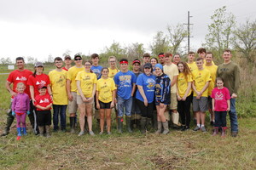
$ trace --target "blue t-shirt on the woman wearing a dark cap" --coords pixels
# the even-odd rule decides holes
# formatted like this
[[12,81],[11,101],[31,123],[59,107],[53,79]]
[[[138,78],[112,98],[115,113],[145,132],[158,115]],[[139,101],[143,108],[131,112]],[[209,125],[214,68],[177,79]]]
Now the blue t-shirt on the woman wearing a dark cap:
[[[144,94],[148,99],[148,103],[152,103],[154,101],[154,86],[155,86],[155,77],[154,75],[147,76],[146,74],[140,74],[137,77],[136,85],[142,86],[144,90]],[[142,94],[137,89],[136,99],[144,101]]]

